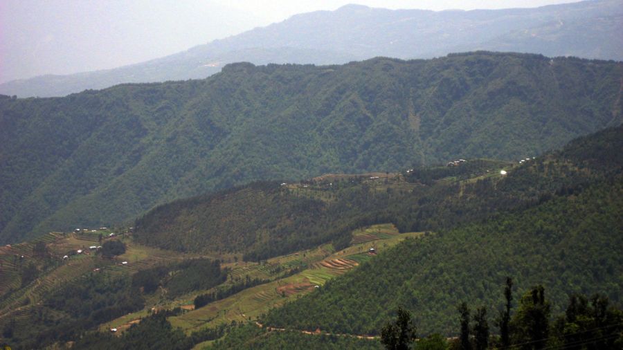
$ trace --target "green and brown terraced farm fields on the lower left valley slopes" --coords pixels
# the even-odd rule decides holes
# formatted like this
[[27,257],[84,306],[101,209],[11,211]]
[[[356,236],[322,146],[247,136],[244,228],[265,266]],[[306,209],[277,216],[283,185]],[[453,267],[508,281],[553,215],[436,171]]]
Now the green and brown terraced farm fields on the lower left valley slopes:
[[[374,225],[354,232],[354,237],[366,238],[354,240],[352,246],[344,250],[335,251],[330,244],[325,244],[318,248],[275,257],[262,264],[243,261],[228,262],[223,264],[230,271],[228,282],[217,288],[227,288],[228,285],[240,282],[246,277],[269,282],[247,288],[240,293],[195,310],[192,309],[192,300],[197,295],[210,291],[193,291],[175,300],[168,300],[160,293],[154,293],[148,296],[145,309],[101,324],[100,330],[108,331],[116,327],[120,330],[118,333],[122,333],[132,324],[140,322],[141,318],[148,315],[152,308],[170,309],[177,306],[183,306],[186,311],[181,315],[170,317],[170,322],[174,326],[180,326],[187,333],[206,326],[217,326],[223,322],[257,319],[270,308],[280,306],[291,298],[314,293],[316,288],[323,286],[329,279],[343,275],[359,264],[374,259],[374,255],[368,253],[369,248],[383,250],[406,237],[417,237],[417,235],[419,234],[398,234],[396,228],[390,224]],[[153,268],[161,264],[199,257],[199,255],[141,246],[134,243],[132,237],[124,235],[114,239],[122,240],[127,250],[125,254],[114,259],[102,259],[89,250],[89,246],[100,244],[97,232],[93,234],[91,232],[49,234],[44,239],[48,243],[51,261],[55,262],[53,266],[46,268],[42,277],[21,289],[16,269],[17,264],[20,263],[16,259],[24,255],[23,259],[36,260],[37,257],[33,257],[35,242],[0,248],[0,271],[3,272],[0,279],[6,282],[2,291],[17,291],[17,293],[8,293],[5,299],[1,300],[0,317],[10,316],[27,320],[28,317],[36,315],[37,308],[42,307],[40,302],[46,293],[82,275],[93,273],[96,268],[113,275],[132,274],[138,270]],[[84,253],[75,255],[78,249],[84,249]],[[69,259],[62,259],[69,252],[74,255],[71,255]],[[210,256],[210,258],[219,258],[219,256]],[[233,260],[231,258],[228,257],[229,261]],[[120,264],[122,261],[128,261],[128,264]]]

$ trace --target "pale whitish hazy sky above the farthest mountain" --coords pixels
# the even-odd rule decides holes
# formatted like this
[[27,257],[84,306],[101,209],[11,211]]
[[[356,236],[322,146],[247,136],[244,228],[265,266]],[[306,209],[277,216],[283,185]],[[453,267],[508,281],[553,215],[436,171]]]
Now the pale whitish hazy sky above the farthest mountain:
[[0,82],[114,68],[347,3],[430,10],[577,0],[0,0]]

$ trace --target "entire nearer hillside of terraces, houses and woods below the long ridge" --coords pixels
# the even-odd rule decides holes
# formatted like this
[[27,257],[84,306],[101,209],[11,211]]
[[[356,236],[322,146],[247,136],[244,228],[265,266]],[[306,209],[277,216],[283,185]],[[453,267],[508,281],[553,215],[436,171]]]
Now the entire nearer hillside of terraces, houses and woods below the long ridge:
[[[379,349],[397,305],[412,311],[420,337],[453,336],[461,301],[486,305],[495,334],[507,275],[514,319],[534,284],[545,285],[555,316],[575,293],[601,293],[620,308],[622,136],[623,125],[608,128],[521,163],[468,159],[253,183],[162,205],[134,230],[51,232],[0,246],[3,341],[19,349]],[[332,237],[306,228],[330,231],[350,219],[357,228],[337,234],[347,240],[327,243]],[[316,241],[304,246],[305,238]],[[241,261],[256,248],[247,241],[290,253]],[[591,313],[601,315],[598,329],[616,338],[569,332],[558,318],[550,337],[620,338],[623,313],[591,302],[603,311]],[[587,322],[579,326],[594,330]]]

